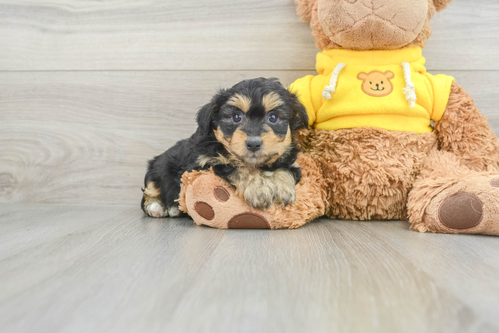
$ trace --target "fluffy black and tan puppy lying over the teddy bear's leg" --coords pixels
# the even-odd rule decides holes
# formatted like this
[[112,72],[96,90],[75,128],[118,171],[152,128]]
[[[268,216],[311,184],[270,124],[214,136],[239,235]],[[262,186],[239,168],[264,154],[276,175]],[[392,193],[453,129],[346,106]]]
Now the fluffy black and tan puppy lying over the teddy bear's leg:
[[288,205],[300,168],[294,133],[308,125],[298,98],[275,79],[252,79],[220,90],[198,114],[198,129],[149,161],[142,209],[149,216],[180,216],[175,201],[185,171],[213,167],[258,208]]

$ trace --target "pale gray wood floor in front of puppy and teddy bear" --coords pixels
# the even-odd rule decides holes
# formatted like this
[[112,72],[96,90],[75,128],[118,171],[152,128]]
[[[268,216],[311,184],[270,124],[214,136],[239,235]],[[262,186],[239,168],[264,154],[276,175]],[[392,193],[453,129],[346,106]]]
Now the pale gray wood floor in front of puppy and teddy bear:
[[[22,215],[37,210],[43,214]],[[499,329],[492,313],[499,298],[482,297],[488,311],[476,306],[487,291],[497,295],[499,282],[489,278],[499,271],[496,237],[326,219],[292,231],[218,230],[190,219],[148,218],[138,207],[0,211],[10,225],[0,224],[4,239],[27,226],[53,225],[31,246],[7,255],[0,248],[0,331]],[[68,227],[75,218],[86,222]],[[460,279],[449,281],[451,275]],[[479,295],[456,290],[456,283]]]

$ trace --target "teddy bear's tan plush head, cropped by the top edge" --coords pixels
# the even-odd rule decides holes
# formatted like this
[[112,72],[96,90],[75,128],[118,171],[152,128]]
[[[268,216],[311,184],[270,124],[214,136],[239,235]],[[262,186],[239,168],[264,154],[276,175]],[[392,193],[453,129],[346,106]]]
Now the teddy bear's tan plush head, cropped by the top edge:
[[452,0],[296,0],[323,50],[394,50],[426,44],[430,19]]

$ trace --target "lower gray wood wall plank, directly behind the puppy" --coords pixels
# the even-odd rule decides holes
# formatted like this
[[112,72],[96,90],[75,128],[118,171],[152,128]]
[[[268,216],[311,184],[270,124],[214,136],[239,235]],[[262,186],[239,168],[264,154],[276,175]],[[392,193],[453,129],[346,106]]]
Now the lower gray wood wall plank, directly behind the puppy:
[[[497,72],[444,72],[499,130]],[[0,202],[137,204],[146,162],[196,129],[215,90],[312,71],[1,73]]]

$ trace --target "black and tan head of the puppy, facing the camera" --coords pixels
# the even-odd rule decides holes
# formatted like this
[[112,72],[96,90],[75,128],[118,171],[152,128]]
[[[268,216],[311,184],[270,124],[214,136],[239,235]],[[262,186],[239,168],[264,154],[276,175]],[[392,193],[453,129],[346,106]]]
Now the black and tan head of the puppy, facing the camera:
[[214,112],[213,132],[245,165],[275,162],[291,148],[293,133],[308,124],[296,96],[276,79],[242,81],[227,93]]

